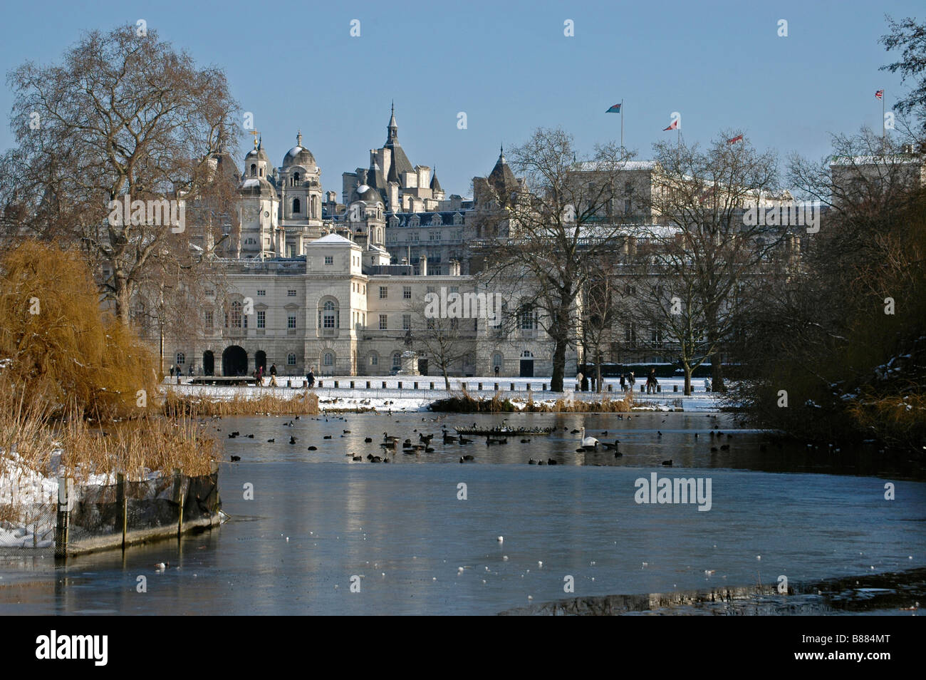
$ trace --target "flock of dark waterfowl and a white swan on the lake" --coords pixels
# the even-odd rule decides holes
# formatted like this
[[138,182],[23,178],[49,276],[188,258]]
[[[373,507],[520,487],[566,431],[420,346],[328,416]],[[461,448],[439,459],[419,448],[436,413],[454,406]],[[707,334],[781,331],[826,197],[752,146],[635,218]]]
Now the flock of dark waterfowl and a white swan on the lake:
[[[618,414],[618,415],[619,415],[619,420],[624,420],[623,414]],[[707,417],[708,417],[708,418],[711,418],[711,417],[716,418],[716,416],[707,416]],[[345,420],[346,420],[343,416],[338,416],[337,418],[339,418],[339,419],[342,420],[342,421],[345,421]],[[432,421],[438,421],[438,420],[441,420],[442,418],[444,418],[444,416],[439,417],[439,418],[432,418],[432,419],[430,419],[430,420],[432,420]],[[627,418],[630,419],[631,416],[627,416]],[[294,427],[294,426],[295,426],[295,422],[294,422],[294,421],[298,421],[298,420],[299,420],[299,416],[295,416],[295,417],[294,417],[294,420],[292,420],[292,421],[290,421],[290,422],[284,423],[284,426],[285,426],[285,427]],[[321,421],[322,418],[319,417],[319,418],[314,419],[314,420],[319,420],[319,421]],[[422,418],[421,420],[422,420],[422,421],[427,421],[427,420],[429,420],[429,419]],[[324,421],[325,421],[325,422],[328,422],[328,417],[327,417],[327,416],[324,416]],[[398,422],[398,421],[396,421],[396,422]],[[663,422],[666,422],[666,421],[663,420]],[[475,423],[475,422],[473,423],[473,427],[476,427],[476,423]],[[218,428],[217,428],[217,429],[218,429]],[[567,428],[567,427],[564,427],[564,428],[563,428],[564,431],[567,431],[568,429],[569,429],[569,428]],[[375,463],[380,463],[380,462],[382,462],[382,463],[388,463],[388,462],[390,462],[389,455],[390,455],[390,454],[395,455],[398,451],[401,451],[404,455],[407,455],[407,456],[419,456],[419,455],[422,454],[422,453],[430,454],[430,453],[434,453],[434,452],[435,452],[436,449],[432,446],[432,444],[433,444],[433,439],[434,439],[435,434],[433,434],[433,433],[431,433],[431,434],[425,434],[425,433],[423,433],[423,432],[419,432],[417,428],[414,429],[413,432],[416,433],[416,434],[418,434],[417,438],[416,438],[414,441],[412,440],[411,437],[403,438],[403,437],[401,437],[401,436],[395,436],[394,434],[389,434],[388,432],[383,432],[383,433],[382,433],[382,441],[379,442],[379,447],[382,448],[381,455],[375,455],[375,454],[373,454],[373,453],[368,453],[367,456],[364,457],[364,456],[362,456],[361,454],[358,454],[358,453],[356,453],[356,452],[349,452],[349,453],[346,453],[346,454],[344,454],[344,455],[347,456],[348,458],[350,458],[351,460],[357,461],[357,462],[362,462],[362,461],[364,460],[364,458],[366,458],[366,460],[368,460],[369,462],[375,462]],[[351,434],[351,431],[345,429],[345,430],[343,430],[341,436],[344,437],[344,436],[347,435],[347,434]],[[586,435],[586,431],[585,431],[585,427],[584,427],[584,426],[582,426],[581,428],[578,428],[578,429],[573,429],[573,430],[571,430],[571,431],[570,431],[570,434],[578,434],[578,435],[579,435],[579,436],[578,436],[579,447],[577,447],[577,448],[575,449],[577,453],[598,453],[598,452],[606,452],[606,451],[607,451],[607,452],[612,452],[613,455],[614,455],[614,458],[621,458],[621,457],[623,456],[623,452],[620,451],[620,440],[619,440],[619,439],[615,439],[613,442],[609,442],[609,441],[604,441],[604,440],[601,440],[601,439],[597,439],[597,438],[595,438],[594,436],[588,436],[588,435]],[[234,438],[239,437],[239,436],[241,436],[241,433],[238,432],[238,431],[235,431],[235,432],[232,432],[231,434],[229,434],[229,438],[230,438],[230,439],[234,439]],[[247,436],[248,438],[250,438],[250,439],[253,439],[253,438],[254,438],[254,434],[247,434],[246,436]],[[487,447],[492,447],[492,446],[504,446],[504,445],[507,445],[509,436],[515,436],[515,435],[513,435],[513,434],[512,434],[512,435],[506,435],[506,434],[488,434],[488,435],[485,436],[485,446],[487,446]],[[601,436],[601,437],[607,437],[607,436],[608,436],[607,430],[605,430],[604,432],[602,432],[601,434],[599,434],[599,436]],[[656,436],[657,436],[657,439],[661,438],[661,437],[662,437],[662,431],[661,431],[661,430],[657,430]],[[712,453],[716,453],[716,452],[718,452],[718,451],[720,451],[720,450],[729,450],[730,444],[729,444],[729,443],[720,444],[720,440],[721,440],[722,437],[726,437],[727,439],[731,439],[731,438],[732,438],[732,434],[725,434],[725,433],[721,432],[720,430],[718,430],[717,432],[715,432],[714,430],[711,430],[710,433],[709,433],[709,436],[711,437],[711,442],[712,442],[712,443],[715,443],[715,442],[716,442],[716,443],[719,445],[719,446],[712,446],[712,447],[710,447],[710,450],[711,450]],[[466,436],[464,436],[463,434],[450,434],[450,433],[447,431],[445,425],[442,426],[441,438],[442,438],[442,441],[443,441],[444,445],[459,445],[459,446],[461,446],[461,447],[462,447],[462,446],[467,446],[467,445],[470,445],[470,444],[474,444],[474,443],[476,442],[475,439],[473,439],[473,438],[471,438],[471,437],[466,437]],[[516,437],[516,438],[517,438],[517,437]],[[694,438],[695,438],[695,439],[698,438],[698,433],[694,433]],[[332,439],[332,434],[325,434],[325,435],[323,436],[323,439]],[[268,443],[274,443],[274,442],[276,441],[276,438],[273,437],[273,438],[268,439],[267,441],[268,441]],[[290,435],[290,438],[289,438],[289,443],[290,443],[290,445],[295,445],[298,441],[299,441],[298,437],[296,437],[296,436],[294,436],[294,435]],[[529,438],[529,437],[528,437],[528,438],[520,438],[519,441],[520,441],[521,444],[530,444],[530,443],[531,443],[531,438]],[[366,444],[372,444],[372,443],[373,443],[372,437],[369,437],[369,436],[365,437],[365,438],[364,438],[364,443],[366,443]],[[765,448],[766,448],[765,445],[761,445],[761,447],[760,447],[760,449],[763,450],[763,451],[765,450]],[[309,450],[309,451],[316,451],[316,450],[318,450],[318,447],[310,446],[310,447],[308,447],[308,450]],[[241,460],[241,457],[240,457],[240,456],[232,456],[232,457],[231,457],[231,460],[232,460],[232,462],[237,462],[237,461]],[[471,462],[471,461],[474,461],[474,460],[476,460],[476,457],[475,457],[474,455],[472,455],[472,454],[464,454],[464,455],[461,455],[461,456],[459,457],[459,462],[460,462],[460,463]],[[554,459],[554,458],[548,458],[547,460],[533,460],[533,458],[531,458],[531,459],[529,459],[527,462],[528,462],[528,465],[557,465],[557,460]],[[671,459],[669,459],[669,460],[663,460],[661,464],[662,464],[664,467],[672,467],[672,460],[671,460]]]

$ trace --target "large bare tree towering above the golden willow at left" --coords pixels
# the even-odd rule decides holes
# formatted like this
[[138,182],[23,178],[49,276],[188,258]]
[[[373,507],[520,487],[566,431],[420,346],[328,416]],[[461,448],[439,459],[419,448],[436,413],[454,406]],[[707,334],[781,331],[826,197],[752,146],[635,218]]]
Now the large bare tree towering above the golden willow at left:
[[[16,235],[79,244],[127,324],[140,285],[162,267],[156,256],[186,260],[197,244],[206,252],[218,216],[234,212],[215,181],[217,157],[239,133],[225,74],[130,24],[91,31],[60,63],[24,63],[8,82],[19,165],[0,183],[5,215],[16,216]],[[120,204],[131,219],[113,217]],[[164,219],[166,206],[175,219]]]

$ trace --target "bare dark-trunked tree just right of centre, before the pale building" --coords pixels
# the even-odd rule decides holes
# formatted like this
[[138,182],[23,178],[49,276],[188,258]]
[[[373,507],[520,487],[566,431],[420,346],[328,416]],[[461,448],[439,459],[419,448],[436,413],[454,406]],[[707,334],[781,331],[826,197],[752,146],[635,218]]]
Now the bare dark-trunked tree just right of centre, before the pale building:
[[576,345],[581,325],[576,299],[588,276],[583,261],[611,249],[619,238],[611,210],[629,157],[613,143],[595,146],[582,161],[578,153],[561,129],[533,132],[510,152],[523,183],[513,183],[513,176],[490,176],[499,209],[485,218],[494,224],[481,230],[496,234],[483,252],[490,280],[504,279],[516,288],[519,305],[536,311],[554,342],[550,388],[555,392],[563,390],[566,352]]

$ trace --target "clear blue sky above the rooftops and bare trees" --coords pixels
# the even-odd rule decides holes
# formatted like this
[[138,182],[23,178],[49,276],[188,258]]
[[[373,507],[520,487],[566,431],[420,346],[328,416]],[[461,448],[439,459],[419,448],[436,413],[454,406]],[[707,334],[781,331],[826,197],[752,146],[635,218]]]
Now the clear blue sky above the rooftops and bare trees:
[[[145,19],[225,69],[277,165],[302,128],[322,185],[340,196],[341,173],[367,167],[385,141],[394,98],[412,163],[436,165],[448,194],[469,195],[499,143],[517,145],[535,127],[560,125],[584,150],[619,139],[620,116],[605,110],[621,99],[625,145],[641,158],[674,135],[661,132],[672,111],[687,141],[737,128],[782,157],[822,157],[831,132],[881,127],[876,89],[888,108],[901,90],[899,76],[878,70],[893,57],[877,43],[885,13],[926,15],[921,0],[10,3],[0,65],[56,62],[81,31]],[[5,86],[3,148],[10,106]]]

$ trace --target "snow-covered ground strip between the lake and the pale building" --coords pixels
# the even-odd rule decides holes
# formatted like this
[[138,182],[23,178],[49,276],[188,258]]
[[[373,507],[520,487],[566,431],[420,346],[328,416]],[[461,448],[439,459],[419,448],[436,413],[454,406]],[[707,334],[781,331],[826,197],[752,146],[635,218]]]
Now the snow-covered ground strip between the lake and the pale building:
[[[174,379],[176,380],[176,379]],[[286,387],[286,381],[292,381],[292,387]],[[229,385],[193,385],[189,378],[182,378],[181,384],[166,382],[170,390],[188,397],[204,397],[208,399],[232,399],[235,396],[254,398],[266,395],[268,392],[277,397],[293,398],[304,394],[303,379],[299,377],[286,378],[278,376],[279,387],[269,387],[269,378],[263,381],[263,387],[257,386],[229,386]],[[353,382],[354,386],[351,387]],[[472,397],[492,397],[495,394],[494,385],[497,383],[503,397],[510,398],[519,408],[524,408],[528,397],[534,403],[554,404],[557,399],[598,401],[603,398],[620,399],[619,380],[607,379],[604,390],[599,393],[582,392],[575,389],[574,379],[566,382],[563,393],[544,391],[549,387],[550,378],[495,378],[474,376],[472,378],[451,378],[450,394],[459,394],[465,388]],[[335,383],[337,387],[335,387]],[[369,388],[367,384],[369,383]],[[399,385],[401,384],[401,388]],[[416,389],[416,384],[418,388]],[[433,384],[433,389],[431,385]],[[479,389],[482,384],[482,390]],[[383,386],[384,385],[384,386]],[[512,385],[514,389],[512,390]],[[607,386],[611,385],[611,392]],[[694,394],[689,397],[682,395],[684,387],[683,378],[664,378],[659,380],[662,392],[647,395],[640,392],[640,382],[634,391],[634,409],[639,410],[671,410],[684,409],[686,411],[713,411],[720,408],[719,398],[707,392],[703,380],[693,382]],[[530,392],[528,387],[530,386]],[[674,392],[677,388],[678,392]],[[438,376],[321,376],[317,380],[312,392],[319,397],[321,409],[375,409],[392,411],[427,410],[432,401],[450,396],[444,389],[444,379]]]

